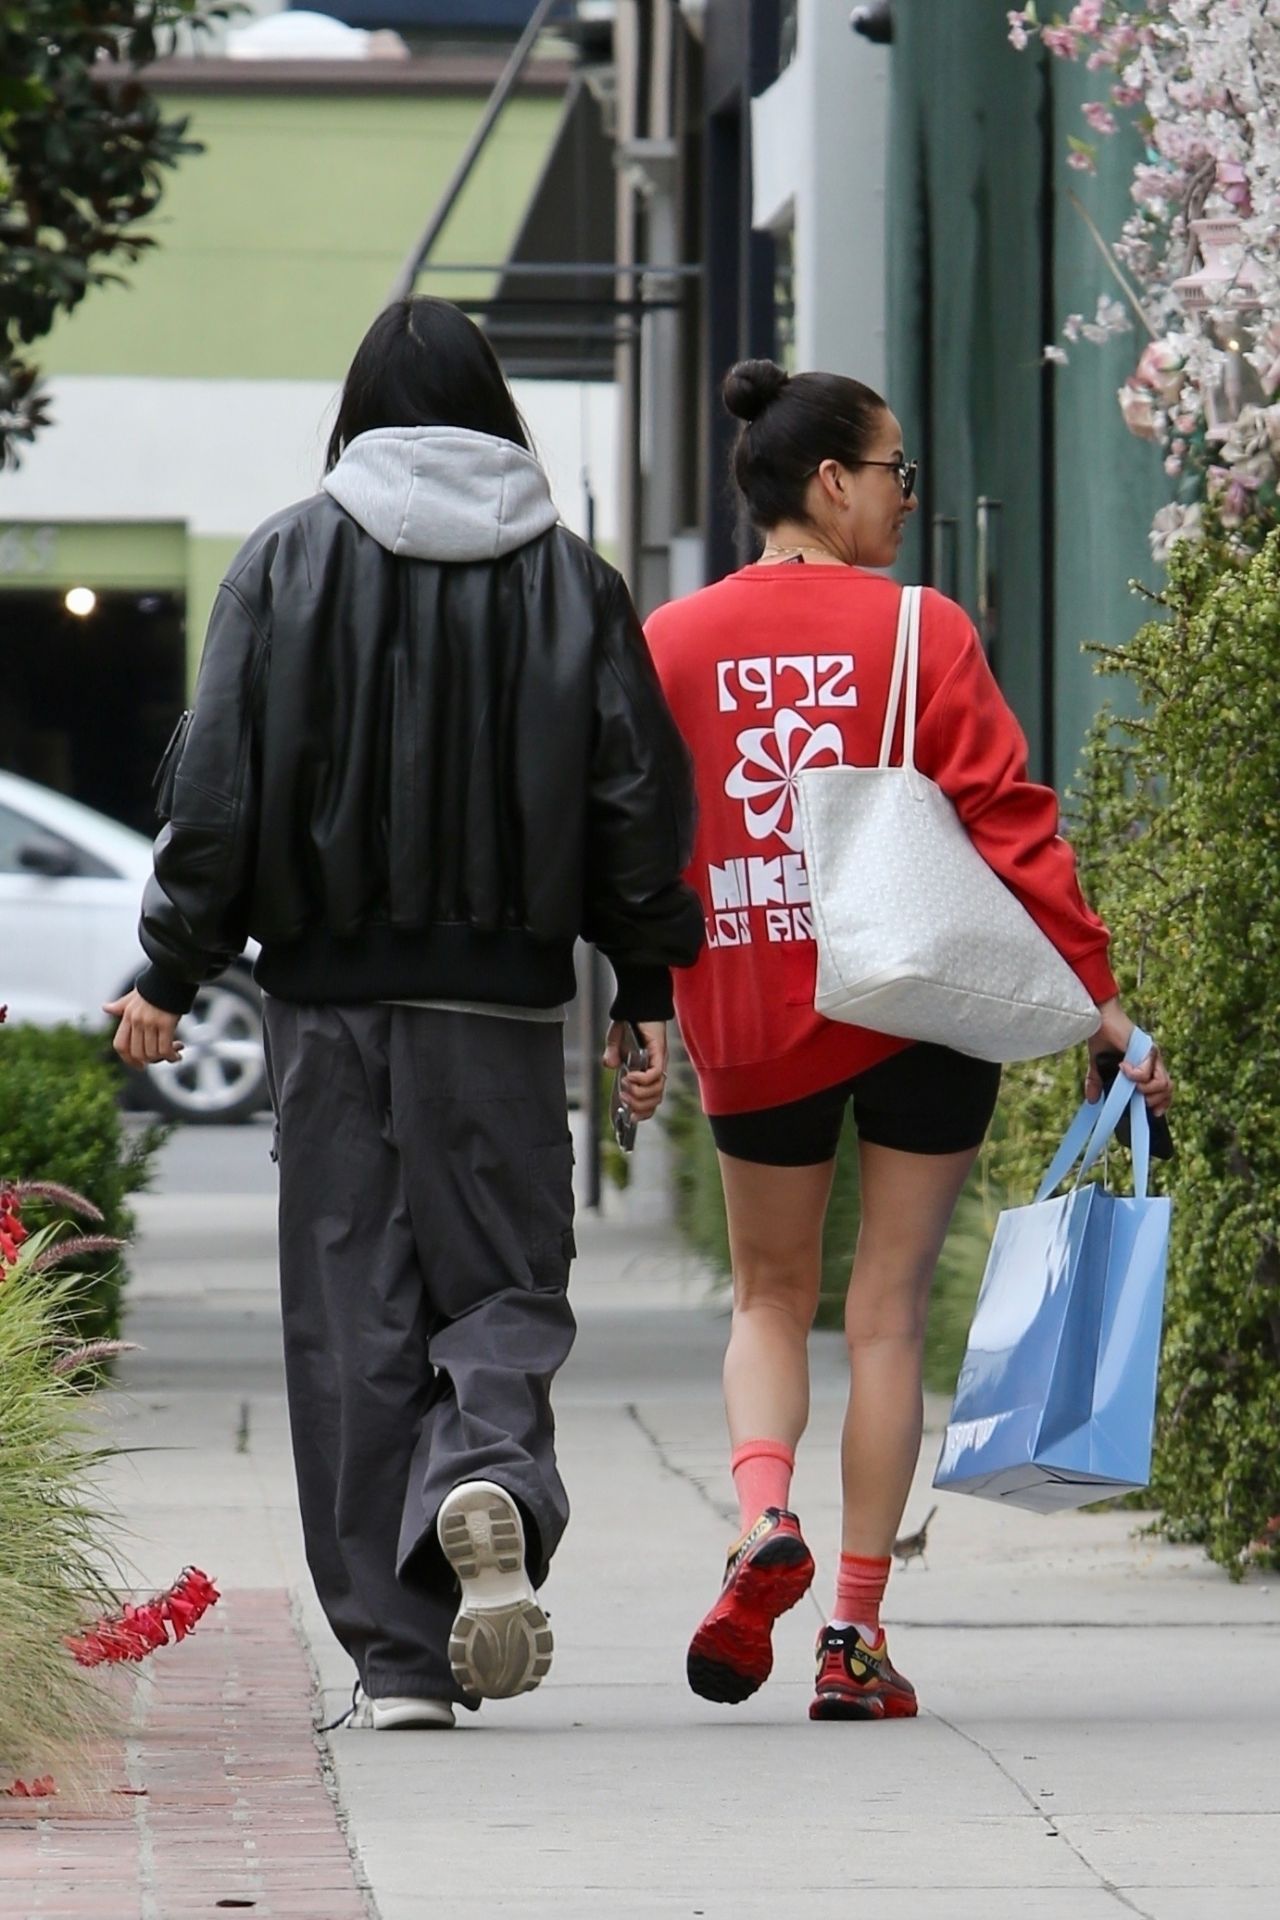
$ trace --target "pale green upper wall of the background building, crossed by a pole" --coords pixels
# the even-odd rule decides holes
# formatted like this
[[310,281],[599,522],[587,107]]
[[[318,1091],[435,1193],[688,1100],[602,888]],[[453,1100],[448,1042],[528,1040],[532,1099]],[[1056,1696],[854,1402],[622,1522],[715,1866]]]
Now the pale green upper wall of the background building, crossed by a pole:
[[[163,98],[163,94],[161,94]],[[42,349],[50,374],[336,380],[482,111],[472,96],[180,94],[203,154],[167,177],[157,246]],[[503,261],[560,100],[509,104],[438,261]],[[426,276],[418,290],[484,294]]]

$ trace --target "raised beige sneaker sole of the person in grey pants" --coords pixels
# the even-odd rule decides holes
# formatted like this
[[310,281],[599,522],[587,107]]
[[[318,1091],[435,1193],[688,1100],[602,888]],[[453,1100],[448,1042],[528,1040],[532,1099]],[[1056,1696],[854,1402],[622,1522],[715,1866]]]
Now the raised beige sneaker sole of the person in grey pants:
[[493,1480],[462,1480],[436,1521],[462,1605],[449,1634],[453,1678],[482,1699],[528,1693],[551,1668],[551,1628],[524,1567],[524,1524]]

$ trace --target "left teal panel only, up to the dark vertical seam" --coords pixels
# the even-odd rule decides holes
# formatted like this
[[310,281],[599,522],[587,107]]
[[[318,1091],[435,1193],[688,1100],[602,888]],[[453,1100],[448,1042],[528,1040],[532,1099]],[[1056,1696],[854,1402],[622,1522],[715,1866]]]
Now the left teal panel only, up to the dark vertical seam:
[[1029,163],[1040,86],[1002,23],[1000,10],[929,0],[894,12],[889,397],[910,407],[921,457],[908,578],[935,576],[936,515],[954,555],[936,586],[977,611],[977,501],[1002,503],[994,664],[1038,756],[1044,342],[1027,236],[1040,217]]

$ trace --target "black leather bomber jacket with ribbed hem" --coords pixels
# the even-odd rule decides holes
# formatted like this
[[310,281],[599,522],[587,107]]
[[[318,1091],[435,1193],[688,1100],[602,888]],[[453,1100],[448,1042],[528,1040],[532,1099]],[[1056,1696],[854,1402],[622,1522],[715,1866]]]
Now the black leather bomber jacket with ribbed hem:
[[186,1012],[253,937],[286,1000],[555,1006],[574,939],[616,1018],[704,939],[689,756],[622,578],[562,526],[386,551],[326,493],[236,557],[157,774],[138,989]]

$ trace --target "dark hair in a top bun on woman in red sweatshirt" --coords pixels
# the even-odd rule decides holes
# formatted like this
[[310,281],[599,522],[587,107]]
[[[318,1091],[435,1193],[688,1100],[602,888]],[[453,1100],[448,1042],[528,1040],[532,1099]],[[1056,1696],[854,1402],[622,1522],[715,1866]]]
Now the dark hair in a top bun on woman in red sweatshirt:
[[885,401],[842,372],[789,374],[773,361],[739,361],[723,378],[729,413],[745,420],[733,447],[733,478],[747,511],[768,532],[804,520],[808,484],[823,461],[858,467]]

